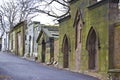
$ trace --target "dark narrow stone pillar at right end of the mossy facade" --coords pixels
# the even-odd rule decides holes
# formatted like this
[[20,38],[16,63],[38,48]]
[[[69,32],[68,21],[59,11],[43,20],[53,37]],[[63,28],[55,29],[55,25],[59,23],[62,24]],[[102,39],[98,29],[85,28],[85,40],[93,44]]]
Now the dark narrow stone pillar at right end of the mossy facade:
[[109,0],[109,69],[114,68],[114,23],[118,21],[118,0]]

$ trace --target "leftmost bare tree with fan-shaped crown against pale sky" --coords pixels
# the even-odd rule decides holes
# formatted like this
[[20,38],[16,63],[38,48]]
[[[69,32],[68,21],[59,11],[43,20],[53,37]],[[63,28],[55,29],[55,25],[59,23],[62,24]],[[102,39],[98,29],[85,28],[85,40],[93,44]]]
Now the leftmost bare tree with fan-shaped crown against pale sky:
[[17,4],[15,2],[6,2],[1,6],[3,19],[9,22],[9,27],[13,27],[17,16]]

